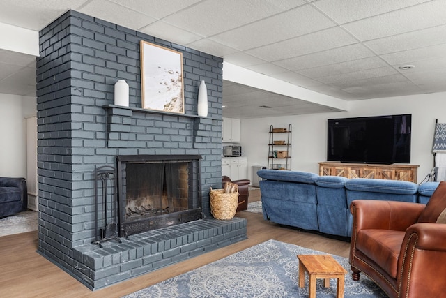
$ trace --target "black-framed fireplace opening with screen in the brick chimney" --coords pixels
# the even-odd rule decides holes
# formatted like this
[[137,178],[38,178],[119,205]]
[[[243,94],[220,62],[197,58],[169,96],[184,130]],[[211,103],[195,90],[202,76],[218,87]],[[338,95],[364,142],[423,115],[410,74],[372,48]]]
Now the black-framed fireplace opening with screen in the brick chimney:
[[201,218],[201,156],[117,156],[121,237]]

